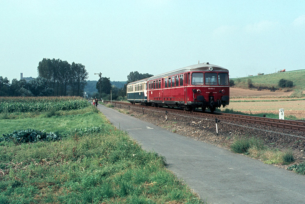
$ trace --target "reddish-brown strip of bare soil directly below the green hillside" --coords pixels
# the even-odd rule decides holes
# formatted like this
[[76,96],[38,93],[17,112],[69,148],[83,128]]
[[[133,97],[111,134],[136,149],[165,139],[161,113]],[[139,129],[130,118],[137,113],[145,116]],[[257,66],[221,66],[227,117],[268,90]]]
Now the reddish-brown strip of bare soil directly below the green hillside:
[[245,97],[283,97],[290,96],[292,92],[284,92],[284,91],[256,91],[250,89],[241,89],[241,88],[231,88],[230,87],[230,98],[245,98]]

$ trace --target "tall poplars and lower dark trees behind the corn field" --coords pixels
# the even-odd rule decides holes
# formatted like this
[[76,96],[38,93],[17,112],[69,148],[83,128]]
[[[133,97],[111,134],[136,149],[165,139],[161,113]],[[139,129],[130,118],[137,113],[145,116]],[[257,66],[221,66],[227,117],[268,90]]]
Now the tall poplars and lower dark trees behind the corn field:
[[88,72],[82,64],[44,58],[38,65],[38,77],[27,82],[0,76],[0,96],[83,96]]

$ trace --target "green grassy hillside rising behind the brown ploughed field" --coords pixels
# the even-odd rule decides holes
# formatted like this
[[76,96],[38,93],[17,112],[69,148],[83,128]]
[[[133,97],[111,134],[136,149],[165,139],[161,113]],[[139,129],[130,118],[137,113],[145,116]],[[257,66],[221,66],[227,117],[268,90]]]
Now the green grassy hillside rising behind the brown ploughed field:
[[[241,78],[231,78],[234,80],[235,88],[246,88],[248,89],[248,80],[251,80],[255,87],[263,87],[262,89],[268,89],[274,87],[282,91],[294,91],[291,95],[292,97],[303,97],[305,92],[305,69],[281,72],[281,73],[272,73],[259,76],[248,76]],[[293,82],[293,87],[291,88],[279,88],[278,82],[281,79],[291,80]]]

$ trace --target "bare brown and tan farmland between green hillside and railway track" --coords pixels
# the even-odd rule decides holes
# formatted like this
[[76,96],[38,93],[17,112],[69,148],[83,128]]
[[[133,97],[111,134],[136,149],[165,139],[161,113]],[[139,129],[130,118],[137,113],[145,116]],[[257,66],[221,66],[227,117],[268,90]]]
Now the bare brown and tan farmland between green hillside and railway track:
[[[293,115],[299,119],[305,118],[305,98],[298,101],[266,101],[266,102],[233,102],[249,100],[283,100],[279,98],[289,96],[292,92],[271,92],[255,91],[248,89],[230,88],[230,104],[225,108],[244,113],[274,113],[278,114],[279,109],[285,109],[285,115]],[[249,98],[259,97],[259,98]],[[225,109],[221,108],[221,109]]]

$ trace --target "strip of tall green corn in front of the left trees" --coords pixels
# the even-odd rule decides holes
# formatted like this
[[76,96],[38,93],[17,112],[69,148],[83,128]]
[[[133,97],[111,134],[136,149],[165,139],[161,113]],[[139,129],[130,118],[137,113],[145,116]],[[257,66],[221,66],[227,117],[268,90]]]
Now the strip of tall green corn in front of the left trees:
[[90,103],[81,97],[1,97],[0,113],[77,110],[89,105]]

